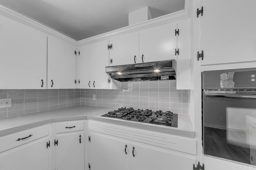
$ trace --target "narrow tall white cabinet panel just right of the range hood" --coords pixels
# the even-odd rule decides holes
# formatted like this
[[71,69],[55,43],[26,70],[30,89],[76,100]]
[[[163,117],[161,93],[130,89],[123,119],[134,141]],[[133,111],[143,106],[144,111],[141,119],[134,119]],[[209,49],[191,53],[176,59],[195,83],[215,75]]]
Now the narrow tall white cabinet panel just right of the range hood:
[[177,89],[190,89],[190,19],[178,22]]

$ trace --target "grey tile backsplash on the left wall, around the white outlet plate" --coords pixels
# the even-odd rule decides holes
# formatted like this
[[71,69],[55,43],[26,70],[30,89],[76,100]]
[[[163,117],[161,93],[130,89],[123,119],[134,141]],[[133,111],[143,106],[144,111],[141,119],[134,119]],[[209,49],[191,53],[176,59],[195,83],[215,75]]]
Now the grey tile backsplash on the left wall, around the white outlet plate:
[[1,90],[0,99],[12,98],[0,118],[80,105],[80,89]]

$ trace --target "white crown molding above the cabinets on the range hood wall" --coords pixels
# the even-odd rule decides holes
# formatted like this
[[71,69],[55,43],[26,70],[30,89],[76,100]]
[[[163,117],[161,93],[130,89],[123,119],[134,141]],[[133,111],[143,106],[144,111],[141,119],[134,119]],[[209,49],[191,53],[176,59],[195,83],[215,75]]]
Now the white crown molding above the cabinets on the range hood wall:
[[185,6],[184,6],[184,10],[180,10],[171,14],[167,14],[164,16],[160,16],[158,18],[153,18],[151,20],[148,21],[144,21],[138,24],[134,24],[132,26],[126,26],[124,28],[120,28],[117,30],[113,30],[110,32],[106,32],[103,34],[99,34],[97,36],[93,36],[90,38],[86,38],[84,40],[79,40],[77,42],[78,47],[82,46],[82,45],[86,45],[89,43],[94,43],[94,42],[98,42],[98,41],[102,41],[102,40],[107,40],[116,36],[121,36],[124,34],[128,34],[128,33],[132,33],[132,32],[137,32],[140,30],[144,30],[147,28],[152,28],[155,26],[160,26],[163,24],[168,24],[170,22],[175,22],[178,20],[183,20],[186,18],[190,17],[190,11],[191,11],[191,6],[192,6],[192,0],[185,0]]

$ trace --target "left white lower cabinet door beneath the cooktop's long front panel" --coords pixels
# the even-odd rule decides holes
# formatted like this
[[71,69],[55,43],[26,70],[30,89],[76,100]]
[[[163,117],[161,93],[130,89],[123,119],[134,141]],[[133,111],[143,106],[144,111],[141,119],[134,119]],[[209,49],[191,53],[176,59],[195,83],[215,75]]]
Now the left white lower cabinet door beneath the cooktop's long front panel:
[[127,142],[100,134],[89,135],[89,164],[92,170],[130,170],[128,155],[131,149],[127,147],[125,154]]

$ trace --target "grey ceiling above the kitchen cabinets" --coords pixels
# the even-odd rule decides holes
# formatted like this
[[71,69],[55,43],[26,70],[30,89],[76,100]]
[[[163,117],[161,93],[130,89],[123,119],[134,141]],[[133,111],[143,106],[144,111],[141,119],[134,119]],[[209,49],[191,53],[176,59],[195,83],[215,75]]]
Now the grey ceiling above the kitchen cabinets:
[[152,18],[184,9],[185,0],[0,0],[58,32],[82,40],[128,26],[128,13],[149,7]]

